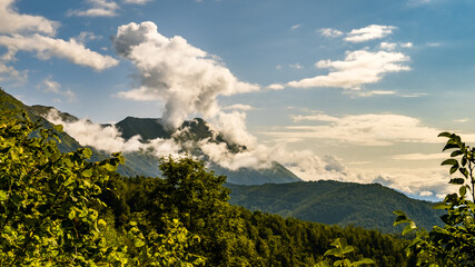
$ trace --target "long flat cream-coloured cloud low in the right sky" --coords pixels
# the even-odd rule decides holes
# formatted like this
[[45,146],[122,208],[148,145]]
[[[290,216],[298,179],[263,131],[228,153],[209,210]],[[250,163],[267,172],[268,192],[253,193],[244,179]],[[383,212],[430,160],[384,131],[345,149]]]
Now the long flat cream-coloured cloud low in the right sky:
[[[392,146],[397,142],[443,142],[437,135],[443,130],[424,126],[420,119],[403,115],[353,115],[334,117],[325,113],[295,116],[295,121],[327,122],[318,126],[289,126],[285,131],[263,132],[285,140],[287,138],[308,141],[320,139],[328,144],[350,144],[354,146]],[[475,135],[464,135],[464,140],[475,140]]]

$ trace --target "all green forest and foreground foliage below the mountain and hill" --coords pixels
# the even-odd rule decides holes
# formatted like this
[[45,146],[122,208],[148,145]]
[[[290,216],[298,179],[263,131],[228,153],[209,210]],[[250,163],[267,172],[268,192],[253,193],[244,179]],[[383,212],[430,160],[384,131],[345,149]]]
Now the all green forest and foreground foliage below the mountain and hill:
[[230,205],[226,177],[191,157],[121,177],[120,152],[60,152],[58,132],[1,110],[0,266],[474,266],[474,149],[456,135],[442,134],[462,157],[443,165],[464,176],[436,206],[445,226],[427,233],[395,211],[407,226],[394,236]]

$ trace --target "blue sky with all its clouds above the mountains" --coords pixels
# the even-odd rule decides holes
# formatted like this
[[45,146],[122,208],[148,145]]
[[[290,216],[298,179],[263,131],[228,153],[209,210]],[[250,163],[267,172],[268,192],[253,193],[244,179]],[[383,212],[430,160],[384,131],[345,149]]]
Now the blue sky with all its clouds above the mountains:
[[469,0],[0,0],[0,86],[95,123],[202,117],[249,148],[204,144],[229,168],[277,160],[304,180],[436,200],[453,190],[437,135],[475,142],[474,12]]

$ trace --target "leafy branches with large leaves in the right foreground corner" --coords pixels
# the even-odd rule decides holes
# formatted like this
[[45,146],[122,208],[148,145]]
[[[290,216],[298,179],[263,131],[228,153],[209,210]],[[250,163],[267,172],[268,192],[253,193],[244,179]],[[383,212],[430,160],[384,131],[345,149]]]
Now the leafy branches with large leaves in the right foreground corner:
[[417,266],[475,266],[475,148],[462,142],[455,134],[442,132],[439,137],[448,138],[444,151],[453,149],[451,158],[442,165],[451,166],[451,175],[462,175],[449,180],[449,184],[461,186],[458,194],[449,194],[434,206],[447,211],[441,217],[445,226],[434,226],[427,233],[400,210],[395,211],[394,224],[407,224],[403,235],[416,231],[407,251],[417,257]]

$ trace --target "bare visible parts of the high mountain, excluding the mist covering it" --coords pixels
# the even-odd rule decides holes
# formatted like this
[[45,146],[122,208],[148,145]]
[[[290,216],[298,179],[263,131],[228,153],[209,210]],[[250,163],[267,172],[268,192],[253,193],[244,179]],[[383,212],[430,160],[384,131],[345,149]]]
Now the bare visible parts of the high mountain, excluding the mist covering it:
[[[51,110],[56,110],[53,107],[44,107],[40,105],[27,106],[18,99],[13,98],[2,89],[0,90],[0,102],[2,108],[7,109],[23,109],[33,120],[40,120],[44,127],[51,128],[51,123],[44,119]],[[77,121],[78,118],[67,113],[58,111],[59,117],[66,122]],[[103,127],[110,125],[103,125]],[[215,132],[208,123],[196,118],[192,120],[185,121],[178,129],[167,129],[164,127],[161,119],[157,118],[133,118],[127,117],[126,119],[115,125],[121,132],[121,137],[126,140],[133,136],[140,135],[141,140],[147,142],[156,138],[174,139],[178,144],[187,142],[187,148],[182,152],[201,157],[205,161],[207,160],[206,155],[202,154],[198,146],[198,141],[207,139],[210,142],[226,142],[221,135]],[[63,152],[73,151],[81,147],[81,145],[70,137],[66,132],[59,134],[61,142],[58,145],[59,149]],[[189,145],[194,144],[194,145]],[[238,152],[245,150],[245,146],[226,142],[227,148],[230,152]],[[100,160],[109,157],[109,155],[99,151],[92,147],[92,160]],[[147,151],[135,151],[123,152],[122,156],[126,158],[126,164],[120,166],[118,171],[122,176],[146,176],[157,177],[160,175],[158,169],[158,158]],[[218,164],[209,162],[209,168],[215,170],[217,175],[226,175],[228,181],[238,185],[261,185],[266,182],[293,182],[299,181],[300,179],[291,171],[286,169],[278,162],[273,162],[269,169],[250,169],[240,168],[238,170],[228,170],[220,167]]]

